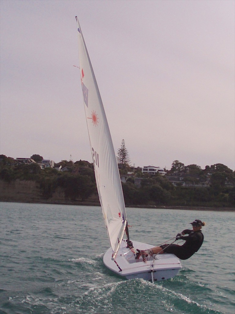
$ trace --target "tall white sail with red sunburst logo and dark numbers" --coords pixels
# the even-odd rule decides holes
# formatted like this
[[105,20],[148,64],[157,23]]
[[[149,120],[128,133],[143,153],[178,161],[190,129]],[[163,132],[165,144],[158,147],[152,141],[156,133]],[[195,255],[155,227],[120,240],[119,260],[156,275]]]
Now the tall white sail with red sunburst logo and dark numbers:
[[76,20],[81,86],[97,190],[110,244],[116,252],[127,219],[123,191],[102,99],[81,27]]

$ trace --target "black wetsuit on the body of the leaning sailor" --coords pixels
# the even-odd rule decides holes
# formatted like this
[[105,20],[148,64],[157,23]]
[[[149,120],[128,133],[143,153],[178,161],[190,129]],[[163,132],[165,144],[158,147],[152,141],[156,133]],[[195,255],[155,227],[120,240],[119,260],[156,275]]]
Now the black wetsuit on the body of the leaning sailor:
[[177,244],[162,245],[160,247],[164,249],[164,253],[172,253],[180,259],[188,259],[200,249],[204,240],[201,230],[194,232],[186,229],[182,231],[182,234],[188,234],[188,236],[180,236],[180,239],[185,240],[185,243],[182,246]]

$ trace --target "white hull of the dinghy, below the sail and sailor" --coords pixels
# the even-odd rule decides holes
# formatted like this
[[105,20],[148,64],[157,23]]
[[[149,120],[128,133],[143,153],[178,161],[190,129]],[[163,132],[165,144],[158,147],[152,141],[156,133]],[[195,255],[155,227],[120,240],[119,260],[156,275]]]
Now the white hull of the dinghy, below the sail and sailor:
[[[146,250],[153,245],[132,241],[135,250]],[[112,248],[105,252],[103,262],[107,268],[127,279],[142,278],[148,281],[159,281],[174,277],[181,269],[180,260],[174,254],[158,254],[148,256],[143,261],[140,257],[135,259],[134,250],[127,247],[126,241],[122,241],[115,261],[112,260]]]

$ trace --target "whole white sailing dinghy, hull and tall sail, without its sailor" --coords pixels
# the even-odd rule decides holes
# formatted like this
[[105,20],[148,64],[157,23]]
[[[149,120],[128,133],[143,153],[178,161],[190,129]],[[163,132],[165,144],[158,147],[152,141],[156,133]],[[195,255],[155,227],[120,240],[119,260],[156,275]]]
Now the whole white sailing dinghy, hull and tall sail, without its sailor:
[[112,138],[91,60],[77,21],[81,87],[93,158],[97,191],[111,247],[103,256],[107,268],[127,279],[142,278],[154,282],[175,276],[181,268],[173,254],[137,257],[137,249],[153,245],[131,241],[122,185]]

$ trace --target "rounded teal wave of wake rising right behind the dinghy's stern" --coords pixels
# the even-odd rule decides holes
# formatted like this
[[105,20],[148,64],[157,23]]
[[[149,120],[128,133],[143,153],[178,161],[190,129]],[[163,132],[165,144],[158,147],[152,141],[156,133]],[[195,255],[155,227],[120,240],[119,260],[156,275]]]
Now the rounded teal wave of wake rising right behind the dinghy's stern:
[[[171,279],[168,282],[168,288],[161,283],[152,284],[143,279],[94,286],[79,296],[76,306],[81,312],[86,311],[86,313],[112,313],[114,311],[118,314],[156,313],[156,308],[158,308],[158,313],[167,311],[187,314],[222,314],[220,311],[209,308],[203,301],[194,300],[193,294],[191,295],[192,291],[185,294],[185,291],[171,289],[171,284],[176,286],[176,283],[184,281],[187,280],[185,278]],[[119,309],[116,308],[117,304],[119,304]]]

